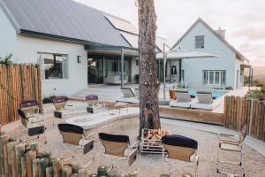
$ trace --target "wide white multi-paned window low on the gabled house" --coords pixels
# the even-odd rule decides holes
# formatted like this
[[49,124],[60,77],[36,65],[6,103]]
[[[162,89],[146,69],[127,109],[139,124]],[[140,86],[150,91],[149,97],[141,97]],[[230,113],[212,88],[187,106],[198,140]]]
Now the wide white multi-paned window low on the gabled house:
[[207,71],[204,70],[203,85],[225,86],[225,71]]

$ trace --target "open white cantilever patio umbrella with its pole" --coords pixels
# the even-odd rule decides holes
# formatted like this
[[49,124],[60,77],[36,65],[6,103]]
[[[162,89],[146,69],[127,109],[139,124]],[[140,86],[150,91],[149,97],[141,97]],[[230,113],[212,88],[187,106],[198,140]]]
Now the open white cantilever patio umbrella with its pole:
[[[165,45],[165,44],[163,44]],[[164,46],[163,46],[164,49]],[[210,54],[206,52],[196,51],[196,50],[170,50],[165,52],[157,53],[156,59],[163,58],[163,99],[165,99],[165,64],[166,59],[180,59],[180,58],[219,58],[220,56],[217,56],[215,54]]]

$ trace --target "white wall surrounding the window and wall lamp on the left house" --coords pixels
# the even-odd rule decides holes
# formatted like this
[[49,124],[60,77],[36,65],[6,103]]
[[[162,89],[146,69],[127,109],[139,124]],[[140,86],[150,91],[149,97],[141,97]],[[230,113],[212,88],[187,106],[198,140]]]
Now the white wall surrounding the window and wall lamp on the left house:
[[[43,80],[43,97],[70,96],[87,87],[87,51],[83,44],[18,35],[17,49],[18,63],[38,63],[37,52],[68,55],[68,79]],[[82,63],[77,63],[77,56],[81,56]]]

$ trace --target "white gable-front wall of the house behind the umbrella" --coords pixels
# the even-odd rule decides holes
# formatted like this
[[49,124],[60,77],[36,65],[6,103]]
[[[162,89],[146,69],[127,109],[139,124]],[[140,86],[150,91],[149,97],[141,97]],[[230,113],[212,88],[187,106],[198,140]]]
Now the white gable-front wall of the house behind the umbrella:
[[[207,27],[198,23],[193,29],[179,42],[178,45],[184,50],[195,50],[195,39],[197,35],[204,35],[204,49],[197,49],[221,56],[221,58],[185,58],[182,60],[182,68],[185,70],[185,80],[190,87],[208,87],[202,84],[202,70],[226,70],[226,87],[236,87],[236,59],[235,53],[228,48],[216,35]],[[238,67],[238,65],[237,65]],[[240,66],[239,66],[240,67]]]

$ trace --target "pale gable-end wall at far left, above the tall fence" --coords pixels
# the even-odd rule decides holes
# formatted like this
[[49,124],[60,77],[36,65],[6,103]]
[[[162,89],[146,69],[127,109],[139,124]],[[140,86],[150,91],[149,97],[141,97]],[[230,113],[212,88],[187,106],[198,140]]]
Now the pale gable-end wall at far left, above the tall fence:
[[17,32],[6,17],[2,8],[0,8],[0,58],[4,58],[12,53],[13,58],[16,55]]

